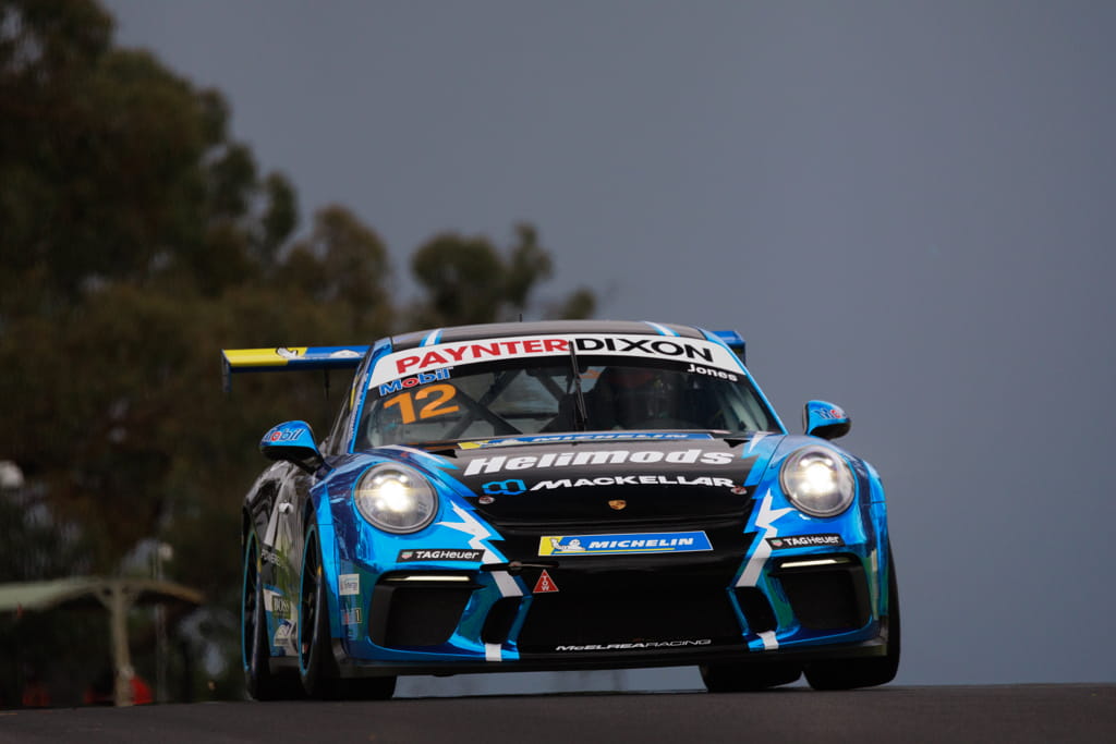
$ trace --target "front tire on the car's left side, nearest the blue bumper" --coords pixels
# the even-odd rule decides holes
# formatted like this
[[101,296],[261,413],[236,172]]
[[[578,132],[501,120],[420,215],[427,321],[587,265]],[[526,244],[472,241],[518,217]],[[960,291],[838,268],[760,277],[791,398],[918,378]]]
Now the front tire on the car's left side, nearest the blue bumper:
[[321,570],[317,526],[306,531],[298,602],[298,676],[310,697],[338,695],[337,663],[329,637],[329,600]]

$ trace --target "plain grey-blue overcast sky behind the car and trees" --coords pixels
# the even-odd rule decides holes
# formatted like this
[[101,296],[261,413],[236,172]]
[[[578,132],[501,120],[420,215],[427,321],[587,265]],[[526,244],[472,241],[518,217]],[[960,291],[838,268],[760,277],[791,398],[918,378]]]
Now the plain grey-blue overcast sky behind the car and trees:
[[374,226],[401,291],[435,232],[528,221],[547,293],[739,329],[793,431],[807,398],[848,409],[888,491],[899,683],[1116,680],[1116,3],[106,6],[225,94],[307,218]]

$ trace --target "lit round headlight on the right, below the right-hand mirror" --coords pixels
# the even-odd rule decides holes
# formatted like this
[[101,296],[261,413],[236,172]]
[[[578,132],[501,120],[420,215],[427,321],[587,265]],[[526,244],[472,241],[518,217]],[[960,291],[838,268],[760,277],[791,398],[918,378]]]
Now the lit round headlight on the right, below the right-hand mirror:
[[811,516],[836,516],[853,503],[856,483],[848,463],[831,450],[807,446],[790,453],[779,484],[796,509]]

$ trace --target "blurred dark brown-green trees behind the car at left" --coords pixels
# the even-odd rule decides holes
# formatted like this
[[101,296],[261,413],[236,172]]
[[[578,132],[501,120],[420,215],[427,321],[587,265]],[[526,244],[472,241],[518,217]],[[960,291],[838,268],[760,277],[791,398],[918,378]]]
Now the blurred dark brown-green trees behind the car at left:
[[[330,406],[316,376],[222,396],[219,349],[510,319],[550,276],[530,225],[506,254],[445,233],[414,254],[424,294],[404,303],[349,210],[295,238],[294,186],[229,118],[220,93],[115,47],[95,0],[0,0],[0,460],[27,482],[0,493],[3,580],[119,573],[167,542],[167,578],[232,612],[253,444],[287,418],[323,431]],[[579,290],[542,312],[593,309]]]

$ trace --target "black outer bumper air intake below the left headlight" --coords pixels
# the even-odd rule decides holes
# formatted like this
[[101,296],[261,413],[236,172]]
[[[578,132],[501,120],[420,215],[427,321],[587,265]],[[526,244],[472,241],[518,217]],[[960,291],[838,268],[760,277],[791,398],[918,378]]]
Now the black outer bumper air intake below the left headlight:
[[368,637],[377,646],[437,646],[453,635],[474,584],[381,581],[372,596]]

